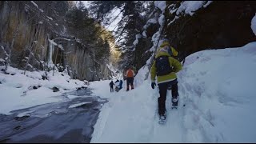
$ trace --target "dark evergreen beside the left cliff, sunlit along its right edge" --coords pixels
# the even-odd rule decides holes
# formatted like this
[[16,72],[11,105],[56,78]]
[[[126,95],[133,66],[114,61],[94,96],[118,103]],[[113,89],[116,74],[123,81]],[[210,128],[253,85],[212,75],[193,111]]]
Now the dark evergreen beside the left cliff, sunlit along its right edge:
[[109,55],[110,46],[106,43],[106,38],[110,36],[106,34],[107,32],[102,35],[102,26],[95,22],[94,18],[90,18],[82,2],[78,2],[66,13],[66,23],[70,34],[81,40],[82,45],[92,51],[97,59]]

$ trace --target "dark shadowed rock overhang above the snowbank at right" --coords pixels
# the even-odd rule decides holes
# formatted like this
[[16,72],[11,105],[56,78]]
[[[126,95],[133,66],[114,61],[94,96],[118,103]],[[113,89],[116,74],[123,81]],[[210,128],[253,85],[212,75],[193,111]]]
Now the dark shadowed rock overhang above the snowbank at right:
[[[175,4],[172,10],[180,6],[178,2],[169,5],[167,2],[167,6],[170,4]],[[171,14],[170,10],[166,10],[164,33],[170,43],[181,52],[180,57],[209,48],[244,46],[256,41],[250,28],[255,11],[254,1],[214,1],[194,11],[192,16],[177,15],[175,12]],[[174,20],[175,17],[179,18]]]

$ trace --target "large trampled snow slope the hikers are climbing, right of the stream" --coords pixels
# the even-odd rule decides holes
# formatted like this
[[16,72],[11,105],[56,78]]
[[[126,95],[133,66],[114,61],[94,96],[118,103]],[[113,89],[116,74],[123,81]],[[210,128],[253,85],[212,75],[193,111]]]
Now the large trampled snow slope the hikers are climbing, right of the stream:
[[[256,142],[256,42],[239,48],[202,50],[186,58],[178,72],[178,110],[158,124],[158,88],[140,78],[110,93],[110,81],[92,82],[93,94],[108,98],[91,142]],[[145,74],[145,73],[144,73]]]

